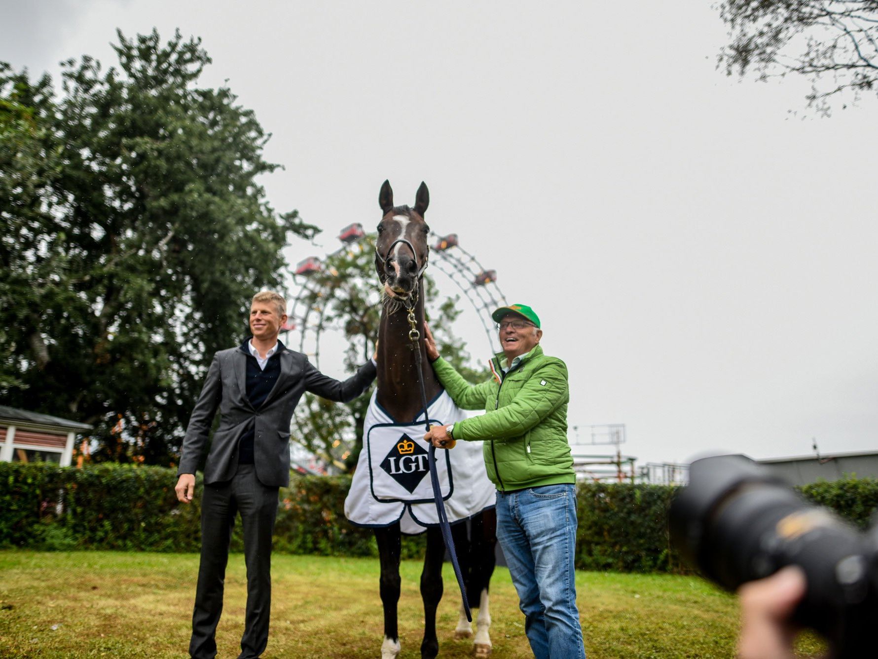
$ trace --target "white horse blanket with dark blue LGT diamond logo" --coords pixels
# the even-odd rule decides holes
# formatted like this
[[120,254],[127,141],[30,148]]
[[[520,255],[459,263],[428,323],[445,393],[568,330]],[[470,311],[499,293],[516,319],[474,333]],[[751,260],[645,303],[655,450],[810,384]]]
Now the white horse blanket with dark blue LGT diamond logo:
[[[427,461],[429,444],[423,412],[414,423],[400,424],[372,394],[363,428],[363,451],[344,500],[344,516],[357,526],[384,527],[399,521],[402,532],[422,533],[439,524]],[[430,425],[465,418],[444,390],[428,405]],[[485,472],[481,442],[458,441],[437,449],[436,472],[449,522],[492,508],[495,488]]]

